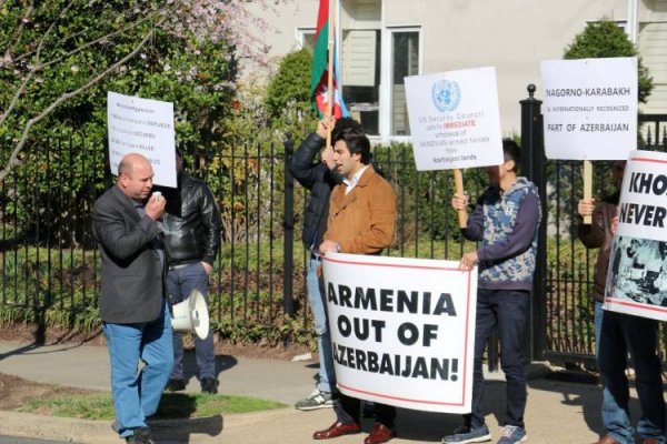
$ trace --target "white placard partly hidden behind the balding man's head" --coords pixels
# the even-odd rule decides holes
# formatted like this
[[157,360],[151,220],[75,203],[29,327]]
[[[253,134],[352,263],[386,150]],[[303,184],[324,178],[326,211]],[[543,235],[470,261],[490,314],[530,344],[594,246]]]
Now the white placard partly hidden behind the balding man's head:
[[139,153],[152,164],[156,185],[177,186],[173,103],[107,92],[111,172],[125,154]]

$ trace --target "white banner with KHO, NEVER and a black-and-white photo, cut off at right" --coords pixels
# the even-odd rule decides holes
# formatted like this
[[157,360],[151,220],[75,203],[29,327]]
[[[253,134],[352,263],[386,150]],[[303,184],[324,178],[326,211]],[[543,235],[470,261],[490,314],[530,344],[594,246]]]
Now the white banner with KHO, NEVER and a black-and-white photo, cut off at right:
[[630,153],[609,260],[606,310],[667,320],[666,172],[666,153]]

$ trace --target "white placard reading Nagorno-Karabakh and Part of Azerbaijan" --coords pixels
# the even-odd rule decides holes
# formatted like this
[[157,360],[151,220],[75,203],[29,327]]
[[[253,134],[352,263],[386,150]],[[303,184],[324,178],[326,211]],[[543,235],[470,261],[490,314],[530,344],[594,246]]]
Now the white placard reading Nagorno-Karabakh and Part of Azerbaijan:
[[549,159],[625,160],[637,149],[637,59],[541,62]]

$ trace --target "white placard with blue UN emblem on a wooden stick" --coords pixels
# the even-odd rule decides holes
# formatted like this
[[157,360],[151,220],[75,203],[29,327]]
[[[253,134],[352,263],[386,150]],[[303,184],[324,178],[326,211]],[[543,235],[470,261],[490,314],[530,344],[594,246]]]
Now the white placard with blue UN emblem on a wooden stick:
[[496,69],[405,78],[417,170],[502,163]]

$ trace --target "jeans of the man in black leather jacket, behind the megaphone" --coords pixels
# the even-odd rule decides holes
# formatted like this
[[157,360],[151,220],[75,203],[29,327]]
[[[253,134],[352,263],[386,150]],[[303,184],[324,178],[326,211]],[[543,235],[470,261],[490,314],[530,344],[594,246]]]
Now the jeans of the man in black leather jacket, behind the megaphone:
[[[167,291],[171,304],[185,301],[195,289],[199,290],[208,305],[209,279],[201,262],[196,262],[182,269],[169,270],[167,274]],[[216,349],[213,335],[209,332],[205,340],[195,335],[195,352],[197,354],[197,367],[199,369],[199,381],[205,377],[217,379],[216,374]],[[183,380],[183,334],[173,332],[173,369],[169,376],[175,380]]]

